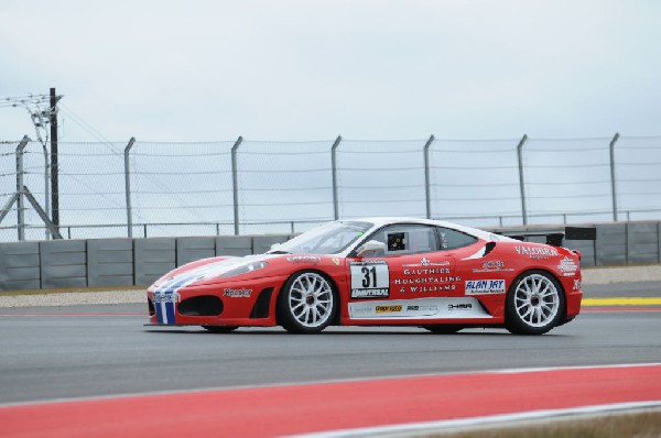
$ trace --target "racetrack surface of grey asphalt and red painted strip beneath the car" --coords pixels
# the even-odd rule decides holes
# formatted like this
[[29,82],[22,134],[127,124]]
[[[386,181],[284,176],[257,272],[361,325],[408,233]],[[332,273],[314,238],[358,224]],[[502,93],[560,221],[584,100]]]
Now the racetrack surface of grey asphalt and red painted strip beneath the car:
[[[245,435],[272,436],[511,414],[524,406],[661,401],[661,286],[586,286],[585,293],[593,303],[582,315],[541,337],[495,329],[435,336],[416,328],[353,327],[317,336],[279,328],[213,335],[143,327],[143,305],[0,309],[0,425],[6,425],[0,431],[127,435],[158,431],[163,416],[171,430],[178,424],[188,428],[180,430],[220,427],[215,430],[229,435],[231,424]],[[620,299],[631,297],[646,299]],[[652,365],[491,373],[618,364]],[[319,383],[330,381],[336,382]],[[167,394],[144,395],[154,393]],[[521,394],[532,394],[538,403]],[[131,396],[117,398],[121,395]],[[68,423],[66,413],[75,413]],[[209,415],[220,423],[201,419]],[[283,424],[280,416],[301,427],[277,428]],[[144,434],[133,436],[139,435]]]

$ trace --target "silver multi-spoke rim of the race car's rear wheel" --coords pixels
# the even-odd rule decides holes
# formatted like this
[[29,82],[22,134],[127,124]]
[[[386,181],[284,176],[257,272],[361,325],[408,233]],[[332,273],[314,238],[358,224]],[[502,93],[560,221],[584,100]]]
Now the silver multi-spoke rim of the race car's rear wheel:
[[514,309],[530,327],[545,327],[557,316],[560,293],[551,278],[531,274],[522,278],[514,292]]

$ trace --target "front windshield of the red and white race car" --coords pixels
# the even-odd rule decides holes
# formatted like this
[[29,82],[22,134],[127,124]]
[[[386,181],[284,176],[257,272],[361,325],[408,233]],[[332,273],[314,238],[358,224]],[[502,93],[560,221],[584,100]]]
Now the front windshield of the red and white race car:
[[335,221],[324,223],[273,248],[269,253],[337,254],[372,228],[370,222]]

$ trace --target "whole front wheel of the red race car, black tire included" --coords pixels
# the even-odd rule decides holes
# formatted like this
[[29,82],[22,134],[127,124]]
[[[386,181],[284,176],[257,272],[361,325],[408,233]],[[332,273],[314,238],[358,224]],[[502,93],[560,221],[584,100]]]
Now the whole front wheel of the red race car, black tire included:
[[278,296],[278,322],[292,333],[318,333],[335,320],[335,285],[317,271],[292,275]]

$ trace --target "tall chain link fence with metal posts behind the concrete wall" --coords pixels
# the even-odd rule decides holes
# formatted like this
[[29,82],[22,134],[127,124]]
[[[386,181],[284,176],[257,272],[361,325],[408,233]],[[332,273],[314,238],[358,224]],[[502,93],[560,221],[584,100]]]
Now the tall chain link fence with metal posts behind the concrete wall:
[[[48,149],[24,140],[0,143],[4,242],[54,237],[39,213],[52,213]],[[293,233],[365,216],[661,218],[661,136],[61,142],[58,175],[65,239]]]

